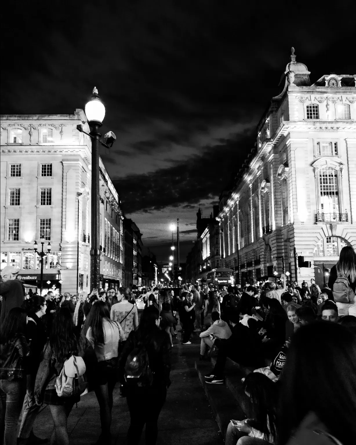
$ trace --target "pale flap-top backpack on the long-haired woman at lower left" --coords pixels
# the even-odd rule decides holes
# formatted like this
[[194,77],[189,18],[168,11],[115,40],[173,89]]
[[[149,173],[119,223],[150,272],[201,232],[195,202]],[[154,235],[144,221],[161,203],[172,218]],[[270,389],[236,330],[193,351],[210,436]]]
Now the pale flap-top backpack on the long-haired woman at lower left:
[[71,397],[86,390],[86,366],[82,357],[70,356],[56,380],[58,397]]

